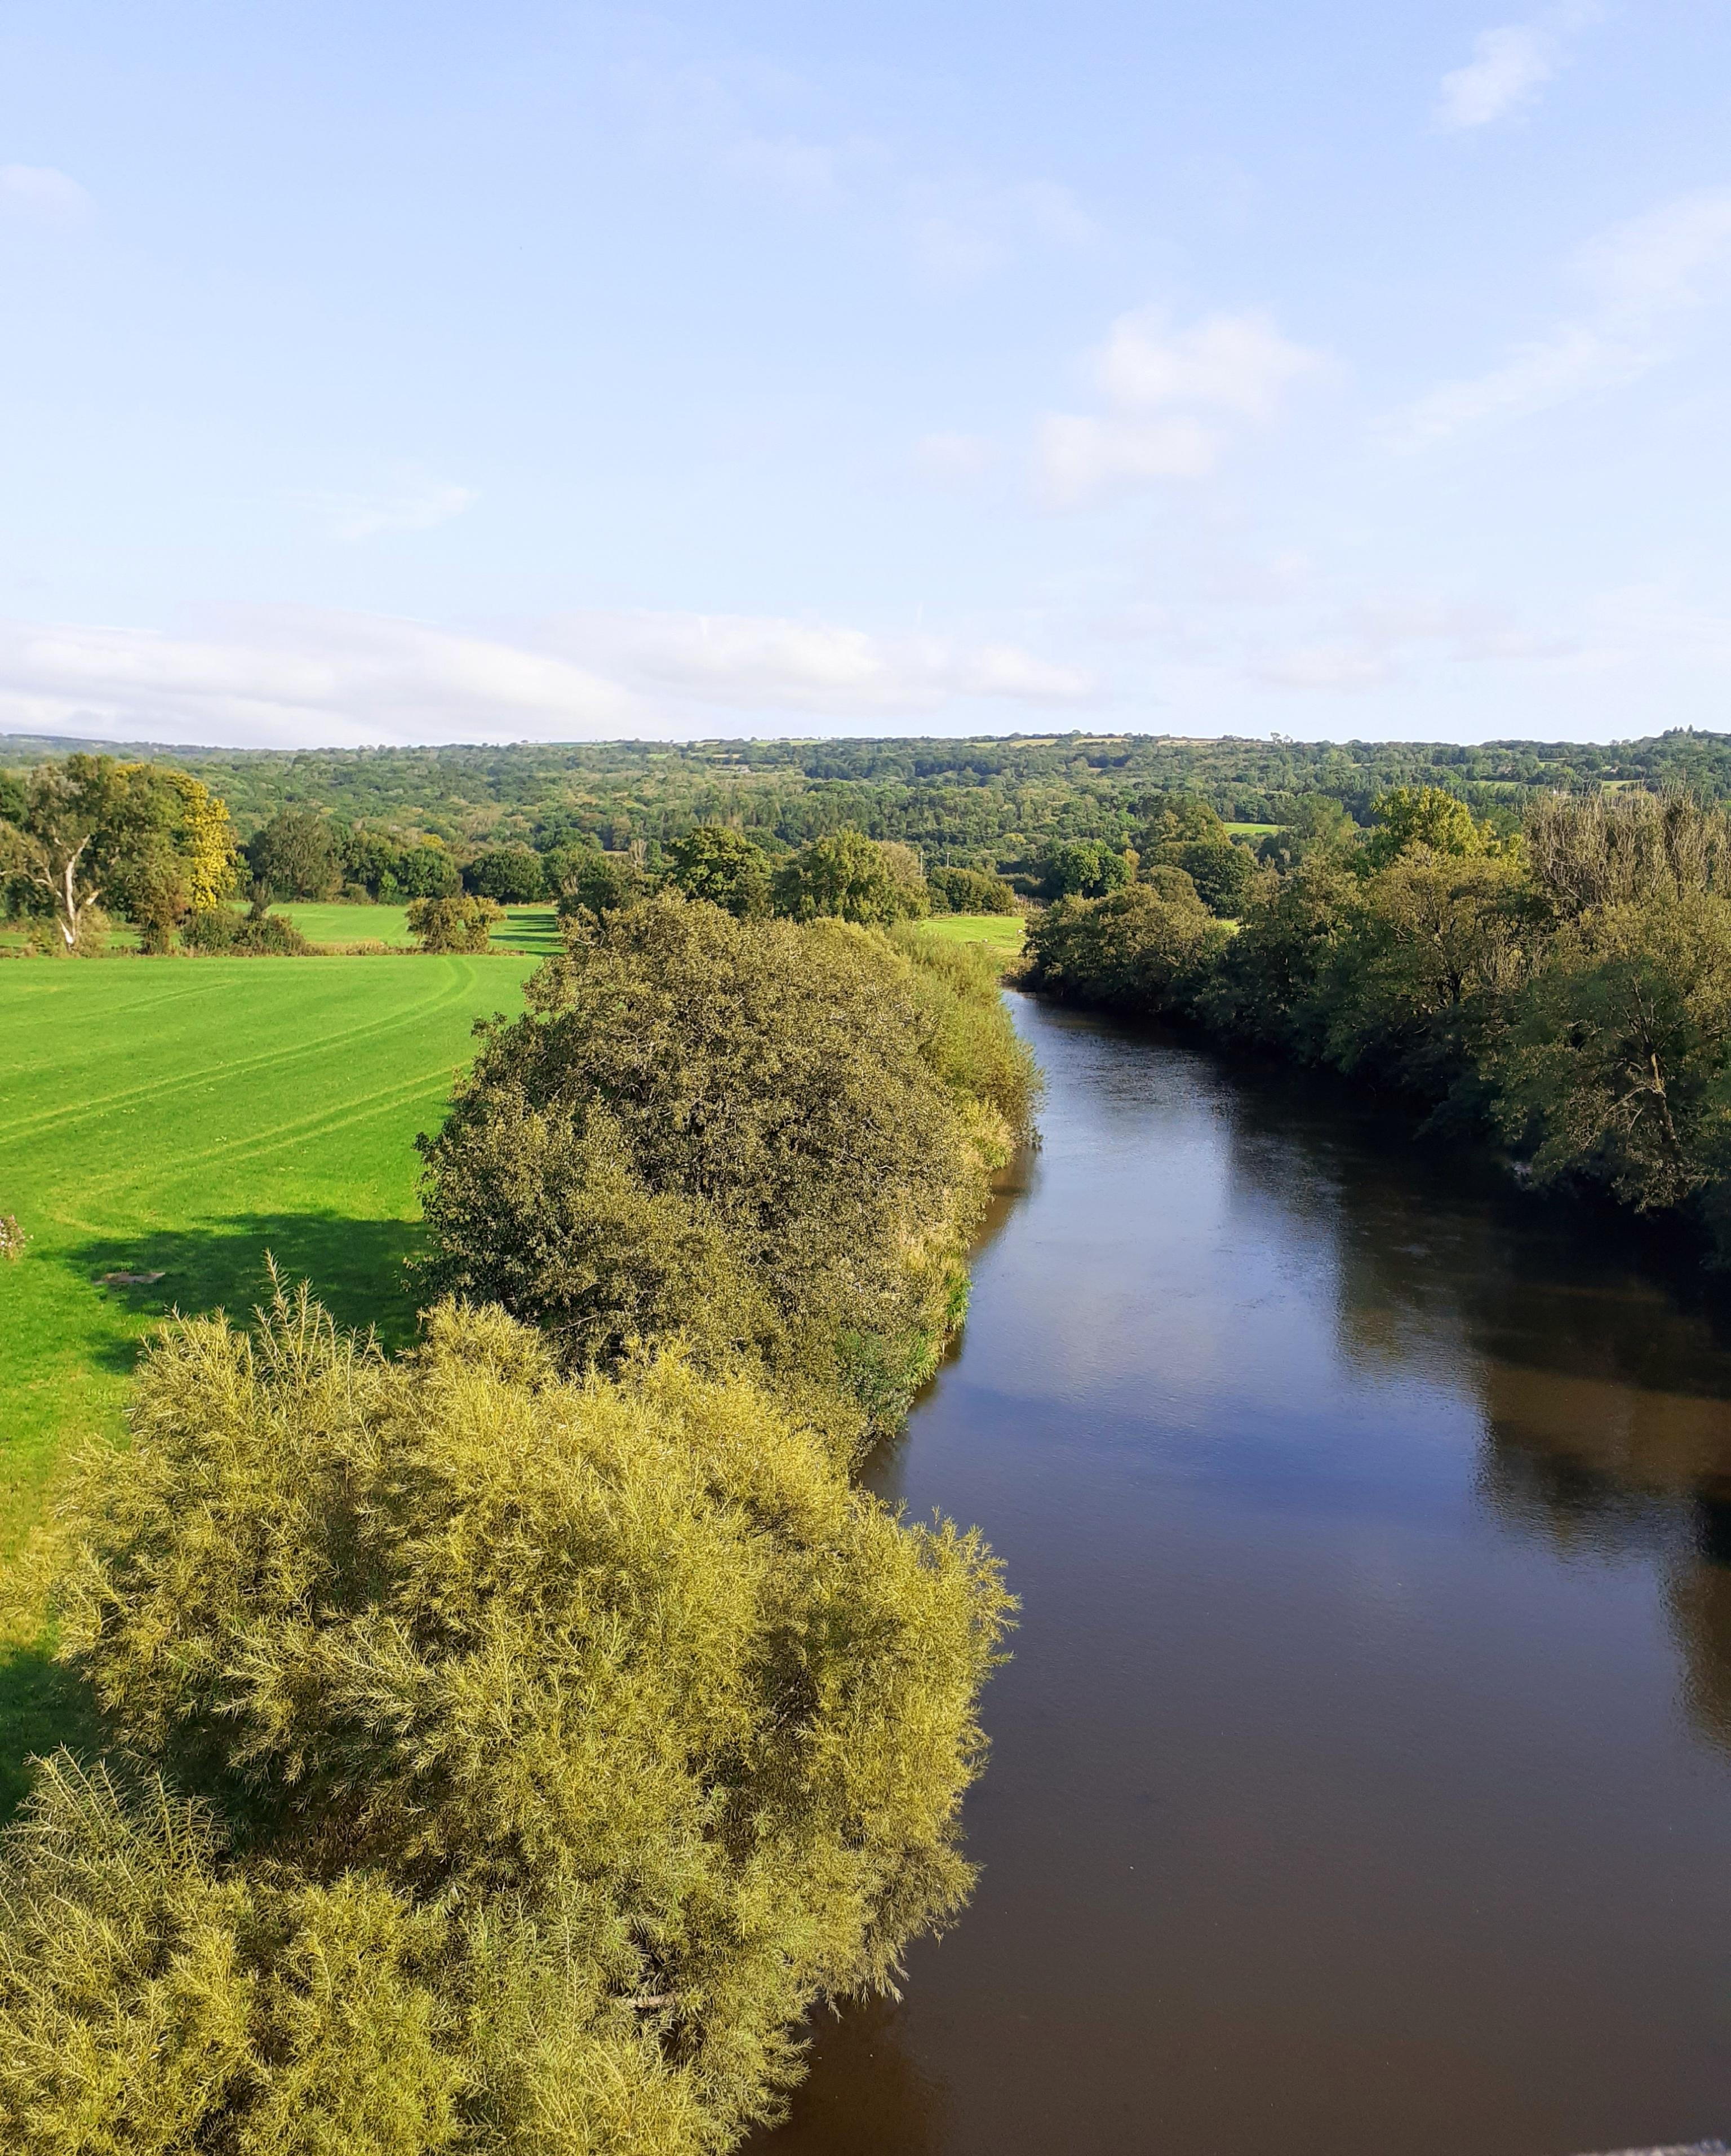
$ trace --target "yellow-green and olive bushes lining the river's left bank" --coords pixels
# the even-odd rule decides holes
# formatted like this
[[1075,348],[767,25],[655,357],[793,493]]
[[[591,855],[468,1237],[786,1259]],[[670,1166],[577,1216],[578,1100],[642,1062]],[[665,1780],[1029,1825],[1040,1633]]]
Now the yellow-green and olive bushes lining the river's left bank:
[[974,1535],[849,1468],[966,1304],[1033,1072],[989,962],[573,918],[423,1138],[386,1358],[172,1322],[65,1505],[108,1749],[0,1869],[24,2156],[714,2156],[961,1906]]

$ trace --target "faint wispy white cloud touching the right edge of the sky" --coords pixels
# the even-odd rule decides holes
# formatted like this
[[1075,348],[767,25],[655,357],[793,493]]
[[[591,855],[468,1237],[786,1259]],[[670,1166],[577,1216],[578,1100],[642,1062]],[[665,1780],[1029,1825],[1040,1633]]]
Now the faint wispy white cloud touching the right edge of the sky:
[[1686,194],[1612,224],[1574,261],[1574,280],[1589,293],[1580,315],[1518,345],[1483,375],[1444,382],[1382,433],[1397,446],[1421,448],[1632,382],[1671,356],[1679,321],[1709,298],[1727,263],[1731,188]]

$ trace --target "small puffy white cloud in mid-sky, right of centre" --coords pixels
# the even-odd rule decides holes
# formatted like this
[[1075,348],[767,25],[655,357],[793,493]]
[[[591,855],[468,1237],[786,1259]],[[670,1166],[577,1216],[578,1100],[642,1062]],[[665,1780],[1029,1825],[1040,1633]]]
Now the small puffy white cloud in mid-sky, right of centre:
[[1121,315],[1091,373],[1104,412],[1054,412],[1039,427],[1039,492],[1076,509],[1123,487],[1201,479],[1231,433],[1268,425],[1319,354],[1283,336],[1268,315],[1207,315],[1175,330],[1158,308]]

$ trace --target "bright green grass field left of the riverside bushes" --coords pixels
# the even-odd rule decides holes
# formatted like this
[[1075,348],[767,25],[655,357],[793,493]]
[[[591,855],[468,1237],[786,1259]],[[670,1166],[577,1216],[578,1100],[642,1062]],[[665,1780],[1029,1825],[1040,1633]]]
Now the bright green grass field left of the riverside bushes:
[[[360,908],[341,908],[358,912]],[[382,912],[384,908],[369,908]],[[524,955],[0,964],[0,1565],[168,1309],[248,1313],[265,1253],[351,1324],[414,1324],[414,1136]],[[103,1283],[103,1274],[162,1274]],[[24,1602],[0,1630],[0,1809],[75,1727]]]

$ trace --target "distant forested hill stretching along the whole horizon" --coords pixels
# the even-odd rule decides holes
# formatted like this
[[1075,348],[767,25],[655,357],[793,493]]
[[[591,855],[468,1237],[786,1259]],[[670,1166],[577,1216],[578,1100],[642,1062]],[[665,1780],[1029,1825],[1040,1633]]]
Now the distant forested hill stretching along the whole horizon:
[[1052,839],[1123,843],[1136,800],[1166,789],[1242,824],[1278,824],[1304,793],[1332,793],[1367,821],[1371,802],[1397,785],[1442,785],[1509,821],[1533,787],[1684,783],[1705,800],[1731,798],[1731,735],[1681,729],[1612,746],[1067,733],[226,750],[11,735],[0,737],[0,768],[75,746],[194,770],[229,802],[241,837],[278,808],[308,806],[457,845],[520,839],[541,849],[580,837],[623,849],[694,821],[737,821],[798,845],[854,824],[933,856],[1002,858]]

